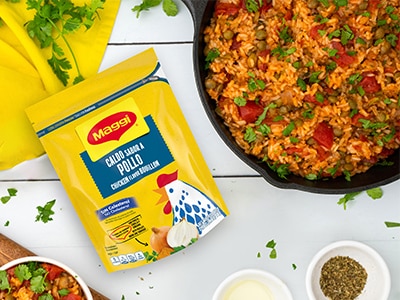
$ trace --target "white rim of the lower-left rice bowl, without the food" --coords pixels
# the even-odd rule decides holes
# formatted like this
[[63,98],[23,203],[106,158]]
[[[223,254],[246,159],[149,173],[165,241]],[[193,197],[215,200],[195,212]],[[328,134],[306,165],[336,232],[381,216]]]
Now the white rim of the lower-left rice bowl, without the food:
[[78,284],[81,286],[82,291],[86,296],[86,299],[93,300],[93,296],[90,292],[90,289],[87,286],[87,284],[83,281],[83,279],[75,271],[73,271],[70,267],[68,267],[67,265],[65,265],[55,259],[42,257],[42,256],[25,256],[25,257],[14,259],[14,260],[2,265],[0,267],[0,270],[8,270],[12,267],[16,267],[19,264],[28,263],[31,261],[53,264],[53,265],[56,265],[56,266],[60,267],[61,269],[65,270],[68,274],[72,275],[75,278],[75,280],[78,282]]

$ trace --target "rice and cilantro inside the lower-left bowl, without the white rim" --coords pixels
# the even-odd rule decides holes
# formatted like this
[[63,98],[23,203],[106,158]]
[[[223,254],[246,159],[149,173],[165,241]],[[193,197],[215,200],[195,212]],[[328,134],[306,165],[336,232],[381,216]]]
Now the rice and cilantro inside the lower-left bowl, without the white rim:
[[77,280],[64,269],[31,261],[0,270],[1,300],[84,300]]

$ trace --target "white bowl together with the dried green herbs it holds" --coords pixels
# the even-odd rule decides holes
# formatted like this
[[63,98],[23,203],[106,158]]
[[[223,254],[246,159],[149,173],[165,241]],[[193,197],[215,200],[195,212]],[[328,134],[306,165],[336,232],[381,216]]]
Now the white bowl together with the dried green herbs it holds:
[[325,246],[312,258],[306,274],[310,300],[387,300],[390,287],[384,259],[357,241]]

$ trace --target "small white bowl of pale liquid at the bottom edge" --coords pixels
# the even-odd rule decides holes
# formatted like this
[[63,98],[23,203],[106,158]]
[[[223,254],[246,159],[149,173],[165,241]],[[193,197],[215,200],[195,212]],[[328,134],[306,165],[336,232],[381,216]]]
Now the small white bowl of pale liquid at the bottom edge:
[[[246,284],[248,287],[256,287],[263,293],[270,293],[270,299],[293,300],[292,294],[286,284],[275,275],[257,269],[244,269],[228,276],[215,290],[212,300],[223,300],[228,293],[235,289],[241,289]],[[269,299],[265,296],[263,299]],[[247,294],[246,299],[256,300]]]

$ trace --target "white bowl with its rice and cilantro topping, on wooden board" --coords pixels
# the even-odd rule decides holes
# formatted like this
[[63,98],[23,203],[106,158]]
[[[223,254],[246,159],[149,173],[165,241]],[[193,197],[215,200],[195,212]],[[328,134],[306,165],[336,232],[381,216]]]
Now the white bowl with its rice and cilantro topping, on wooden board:
[[[0,267],[0,299],[93,300],[85,281],[67,265],[42,256],[17,258]],[[52,298],[51,298],[52,297]]]

